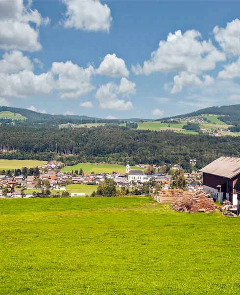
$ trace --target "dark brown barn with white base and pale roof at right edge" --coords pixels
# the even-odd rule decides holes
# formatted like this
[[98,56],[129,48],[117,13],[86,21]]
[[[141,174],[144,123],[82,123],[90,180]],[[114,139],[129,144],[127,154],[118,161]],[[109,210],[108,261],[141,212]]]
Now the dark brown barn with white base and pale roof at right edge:
[[219,202],[225,199],[237,205],[236,183],[240,177],[240,158],[220,157],[200,170],[203,190]]

